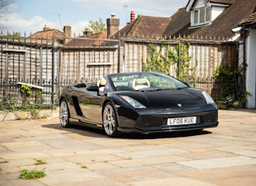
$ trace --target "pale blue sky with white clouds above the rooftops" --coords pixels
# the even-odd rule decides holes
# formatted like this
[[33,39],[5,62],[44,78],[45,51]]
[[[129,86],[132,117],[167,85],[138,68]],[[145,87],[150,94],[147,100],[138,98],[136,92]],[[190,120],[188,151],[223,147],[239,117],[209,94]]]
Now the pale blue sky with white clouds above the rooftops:
[[28,35],[41,31],[46,25],[63,30],[72,26],[72,33],[79,36],[89,20],[106,21],[115,13],[120,28],[130,20],[130,12],[138,15],[170,17],[189,0],[14,0],[9,14],[2,17],[4,32],[20,32]]

